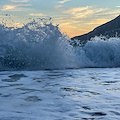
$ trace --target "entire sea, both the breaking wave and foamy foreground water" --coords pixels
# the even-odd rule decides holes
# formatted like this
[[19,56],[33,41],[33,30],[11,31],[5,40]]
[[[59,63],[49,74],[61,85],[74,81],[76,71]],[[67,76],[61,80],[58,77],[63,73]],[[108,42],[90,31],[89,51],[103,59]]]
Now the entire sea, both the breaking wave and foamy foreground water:
[[44,19],[0,24],[0,120],[120,120],[120,38],[70,43]]

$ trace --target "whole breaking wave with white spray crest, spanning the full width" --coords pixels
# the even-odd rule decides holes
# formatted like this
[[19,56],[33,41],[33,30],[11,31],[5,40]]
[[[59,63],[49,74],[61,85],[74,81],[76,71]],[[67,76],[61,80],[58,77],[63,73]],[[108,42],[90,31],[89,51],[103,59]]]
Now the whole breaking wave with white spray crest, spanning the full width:
[[120,38],[95,37],[83,47],[69,41],[51,22],[16,29],[0,24],[0,70],[120,67]]

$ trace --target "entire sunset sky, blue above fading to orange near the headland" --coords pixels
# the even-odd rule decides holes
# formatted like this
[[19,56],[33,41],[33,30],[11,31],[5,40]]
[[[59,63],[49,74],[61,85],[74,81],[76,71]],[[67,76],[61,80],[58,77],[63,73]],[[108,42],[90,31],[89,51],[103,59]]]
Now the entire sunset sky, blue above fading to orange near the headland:
[[0,0],[0,22],[18,27],[28,18],[51,17],[69,37],[85,34],[120,14],[120,0]]

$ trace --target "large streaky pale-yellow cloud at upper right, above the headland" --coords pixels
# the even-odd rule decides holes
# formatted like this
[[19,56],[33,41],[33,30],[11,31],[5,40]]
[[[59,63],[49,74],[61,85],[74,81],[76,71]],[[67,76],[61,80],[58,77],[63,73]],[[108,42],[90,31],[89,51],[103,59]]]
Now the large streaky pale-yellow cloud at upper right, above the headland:
[[[71,19],[85,19],[85,18],[113,18],[120,14],[120,9],[112,10],[110,8],[97,8],[93,6],[84,6],[65,9],[63,6],[56,6],[55,10],[58,12],[64,13],[66,18]],[[65,18],[65,17],[64,17]]]

